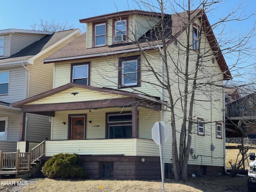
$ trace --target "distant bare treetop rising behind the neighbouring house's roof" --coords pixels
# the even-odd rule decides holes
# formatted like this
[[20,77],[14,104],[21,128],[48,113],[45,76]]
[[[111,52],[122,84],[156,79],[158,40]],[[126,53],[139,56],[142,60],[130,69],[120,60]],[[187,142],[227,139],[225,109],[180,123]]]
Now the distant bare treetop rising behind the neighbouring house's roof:
[[32,30],[42,30],[42,31],[51,31],[51,32],[57,32],[57,31],[64,31],[69,30],[73,28],[73,25],[68,24],[68,21],[64,23],[56,23],[55,20],[52,21],[45,21],[40,19],[40,22],[38,24],[32,24],[30,27]]

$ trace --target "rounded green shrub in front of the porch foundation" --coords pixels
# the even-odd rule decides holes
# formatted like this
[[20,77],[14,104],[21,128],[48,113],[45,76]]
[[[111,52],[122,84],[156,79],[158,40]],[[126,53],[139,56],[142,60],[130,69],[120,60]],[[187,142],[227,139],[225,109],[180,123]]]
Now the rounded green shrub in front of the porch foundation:
[[45,162],[42,167],[44,176],[54,178],[88,178],[86,171],[80,166],[78,154],[60,153]]

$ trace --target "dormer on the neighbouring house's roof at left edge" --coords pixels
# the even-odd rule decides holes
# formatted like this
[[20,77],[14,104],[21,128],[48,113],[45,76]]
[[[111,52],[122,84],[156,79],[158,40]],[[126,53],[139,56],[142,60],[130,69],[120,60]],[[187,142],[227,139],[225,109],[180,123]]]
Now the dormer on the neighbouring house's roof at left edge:
[[24,29],[0,30],[0,58],[12,56],[26,46],[52,33]]

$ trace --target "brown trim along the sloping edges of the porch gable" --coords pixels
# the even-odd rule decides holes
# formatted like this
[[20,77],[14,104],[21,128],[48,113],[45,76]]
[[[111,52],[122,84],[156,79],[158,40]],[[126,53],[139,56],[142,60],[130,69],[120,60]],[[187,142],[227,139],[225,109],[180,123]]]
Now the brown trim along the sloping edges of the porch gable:
[[[48,96],[52,96],[54,94],[57,94],[59,92],[62,92],[64,90],[67,90],[67,89],[73,88],[73,87],[78,87],[78,88],[83,88],[83,89],[88,89],[88,90],[94,90],[94,91],[98,91],[98,92],[106,92],[106,93],[110,93],[110,94],[111,93],[112,94],[120,94],[120,95],[123,95],[123,96],[128,96],[128,97],[133,97],[133,98],[138,98],[138,99],[143,98],[142,95],[140,96],[139,94],[134,94],[134,93],[130,93],[130,92],[127,92],[127,91],[115,90],[115,89],[111,89],[111,88],[100,88],[100,87],[94,87],[94,86],[80,85],[80,84],[76,84],[76,83],[68,83],[66,85],[54,88],[54,89],[46,91],[44,93],[41,93],[41,94],[32,96],[30,98],[15,102],[15,103],[12,104],[12,107],[15,106],[15,107],[20,108],[20,106],[23,106],[23,105],[28,104],[30,102],[34,102],[36,100],[40,100],[40,99],[46,98]],[[160,101],[159,101],[159,103],[160,103]]]

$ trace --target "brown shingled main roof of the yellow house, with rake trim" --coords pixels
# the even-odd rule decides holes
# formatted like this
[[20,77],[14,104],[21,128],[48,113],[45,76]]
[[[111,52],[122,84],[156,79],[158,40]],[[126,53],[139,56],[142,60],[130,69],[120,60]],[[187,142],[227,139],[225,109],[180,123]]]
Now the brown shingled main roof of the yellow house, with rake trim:
[[[130,13],[133,13],[132,11],[129,11]],[[116,13],[118,14],[118,13]],[[108,18],[112,17],[113,15],[116,14],[108,14],[104,16],[98,16],[94,18],[98,19],[103,19],[103,18]],[[127,13],[126,13],[127,14]],[[149,14],[149,13],[148,13]],[[210,45],[212,47],[212,50],[214,51],[214,54],[216,56],[216,59],[218,61],[218,64],[224,72],[224,78],[228,79],[231,78],[231,74],[228,70],[228,66],[224,60],[224,57],[222,56],[222,53],[220,51],[220,48],[218,46],[218,43],[216,41],[216,38],[212,32],[212,29],[210,27],[210,24],[208,22],[208,19],[206,17],[206,14],[204,14],[202,9],[198,10],[192,10],[190,11],[190,20],[195,20],[196,18],[200,17],[200,20],[203,21],[203,24],[206,27],[207,30],[207,38],[208,41],[210,42]],[[87,18],[84,20],[80,20],[81,22],[88,22],[91,20],[94,20],[94,18]],[[169,37],[166,39],[167,43],[170,43],[174,40],[174,37],[177,37],[180,35],[183,30],[186,29],[188,25],[188,13],[187,12],[182,12],[182,13],[177,13],[177,14],[172,14],[172,15],[167,15],[167,19],[170,19],[168,21],[168,26],[170,27],[170,34]],[[124,44],[119,44],[117,46],[102,46],[102,47],[95,47],[95,48],[87,48],[86,49],[86,34],[81,35],[77,39],[75,39],[73,42],[68,44],[67,46],[63,47],[56,53],[52,54],[48,58],[44,60],[44,63],[50,63],[50,62],[60,62],[64,60],[73,60],[73,59],[82,59],[82,58],[89,58],[89,57],[95,57],[95,56],[104,56],[104,55],[110,55],[110,54],[118,54],[121,52],[134,52],[134,51],[139,51],[140,48],[145,48],[147,49],[153,48],[156,45],[160,45],[161,47],[161,42],[156,41],[156,37],[152,37],[152,30],[157,32],[158,26],[156,25],[154,29],[149,30],[146,32],[142,38],[139,39],[139,46],[137,43],[124,43]],[[147,35],[149,34],[149,35]],[[150,35],[151,34],[151,35]],[[151,38],[151,39],[150,39]]]

